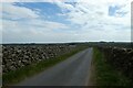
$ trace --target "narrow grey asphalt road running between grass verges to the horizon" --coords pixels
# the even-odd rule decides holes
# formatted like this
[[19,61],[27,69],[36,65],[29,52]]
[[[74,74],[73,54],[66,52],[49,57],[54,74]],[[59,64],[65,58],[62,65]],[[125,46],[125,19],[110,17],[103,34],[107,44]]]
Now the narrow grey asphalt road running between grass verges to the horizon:
[[17,86],[88,86],[92,51],[84,50]]

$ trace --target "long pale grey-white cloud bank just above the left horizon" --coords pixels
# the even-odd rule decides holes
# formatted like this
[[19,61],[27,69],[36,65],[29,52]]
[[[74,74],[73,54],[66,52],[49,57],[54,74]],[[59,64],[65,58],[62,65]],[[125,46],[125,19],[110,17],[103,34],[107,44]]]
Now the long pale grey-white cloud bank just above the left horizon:
[[[61,38],[66,38],[65,33],[54,32],[58,29],[68,29],[66,25],[62,23],[41,21],[41,20],[33,20],[33,21],[25,23],[25,22],[3,20],[3,29],[4,29],[2,32],[3,43],[61,42],[63,41]],[[68,35],[72,36],[72,34],[68,34]]]

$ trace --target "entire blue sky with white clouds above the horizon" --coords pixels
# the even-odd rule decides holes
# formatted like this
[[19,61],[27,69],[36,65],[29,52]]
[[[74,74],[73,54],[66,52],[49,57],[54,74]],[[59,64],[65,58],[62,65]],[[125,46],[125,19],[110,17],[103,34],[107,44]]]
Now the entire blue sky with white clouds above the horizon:
[[0,4],[2,43],[131,41],[131,0],[9,0]]

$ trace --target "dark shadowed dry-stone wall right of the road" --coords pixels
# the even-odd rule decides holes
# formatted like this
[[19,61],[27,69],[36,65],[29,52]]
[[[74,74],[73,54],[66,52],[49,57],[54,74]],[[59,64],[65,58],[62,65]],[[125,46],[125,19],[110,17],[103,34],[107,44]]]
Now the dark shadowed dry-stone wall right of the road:
[[106,62],[133,80],[133,48],[99,47],[104,52]]

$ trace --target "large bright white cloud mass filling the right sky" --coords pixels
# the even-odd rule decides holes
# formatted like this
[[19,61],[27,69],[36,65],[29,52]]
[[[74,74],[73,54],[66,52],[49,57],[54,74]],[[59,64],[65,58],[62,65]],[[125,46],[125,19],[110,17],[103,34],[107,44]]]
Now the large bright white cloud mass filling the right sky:
[[[75,6],[69,4],[71,8],[65,8],[68,3],[64,2],[57,4],[69,10],[68,20],[72,24],[81,25],[80,34],[82,32],[81,35],[88,38],[93,36],[98,41],[131,41],[131,0],[80,0]],[[109,15],[110,6],[121,7],[113,16]],[[117,12],[126,14],[121,16]]]

